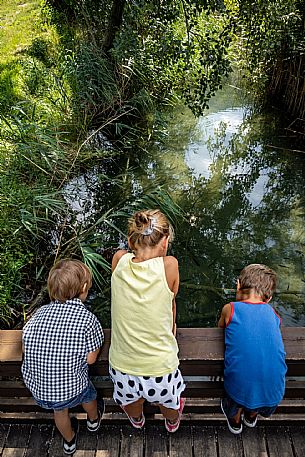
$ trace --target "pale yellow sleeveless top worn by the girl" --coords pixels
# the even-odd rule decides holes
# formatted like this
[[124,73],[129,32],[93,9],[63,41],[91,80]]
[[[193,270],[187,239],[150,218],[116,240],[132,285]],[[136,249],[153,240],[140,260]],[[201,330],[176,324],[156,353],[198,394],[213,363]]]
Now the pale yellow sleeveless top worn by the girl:
[[179,365],[172,333],[173,292],[163,257],[135,263],[124,254],[111,278],[111,345],[113,368],[135,376],[163,376]]

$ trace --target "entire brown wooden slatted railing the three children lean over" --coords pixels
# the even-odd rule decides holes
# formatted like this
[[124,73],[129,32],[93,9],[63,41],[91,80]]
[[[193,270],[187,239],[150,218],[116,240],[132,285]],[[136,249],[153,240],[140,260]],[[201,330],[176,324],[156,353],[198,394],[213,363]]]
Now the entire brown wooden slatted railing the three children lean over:
[[[305,419],[305,328],[282,329],[288,366],[284,400],[273,417]],[[177,331],[180,369],[186,377],[187,403],[185,413],[219,413],[219,398],[223,395],[224,338],[218,328],[182,328]],[[99,360],[90,367],[90,375],[100,396],[106,402],[106,412],[120,408],[111,399],[112,383],[108,376],[110,330],[105,330],[105,342]],[[31,398],[21,378],[21,331],[0,331],[0,412],[41,412]],[[145,405],[147,413],[156,413],[156,405]],[[45,412],[45,411],[44,411]]]

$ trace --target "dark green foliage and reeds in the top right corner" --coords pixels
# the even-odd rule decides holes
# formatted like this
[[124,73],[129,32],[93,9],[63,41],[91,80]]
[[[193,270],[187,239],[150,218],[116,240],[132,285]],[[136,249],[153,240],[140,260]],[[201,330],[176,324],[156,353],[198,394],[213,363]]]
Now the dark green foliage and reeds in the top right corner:
[[[291,115],[305,113],[305,8],[300,0],[238,1],[239,64]],[[265,89],[265,91],[264,91]]]

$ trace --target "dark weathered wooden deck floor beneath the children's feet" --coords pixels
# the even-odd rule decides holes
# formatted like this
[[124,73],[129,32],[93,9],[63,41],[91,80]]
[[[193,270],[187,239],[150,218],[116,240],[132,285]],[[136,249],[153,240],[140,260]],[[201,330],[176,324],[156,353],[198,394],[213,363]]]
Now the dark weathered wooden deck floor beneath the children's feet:
[[[50,423],[1,423],[1,457],[61,457],[62,442]],[[75,457],[304,457],[305,426],[258,425],[232,435],[224,425],[184,423],[169,435],[162,424],[144,431],[106,424],[89,435],[81,422]]]

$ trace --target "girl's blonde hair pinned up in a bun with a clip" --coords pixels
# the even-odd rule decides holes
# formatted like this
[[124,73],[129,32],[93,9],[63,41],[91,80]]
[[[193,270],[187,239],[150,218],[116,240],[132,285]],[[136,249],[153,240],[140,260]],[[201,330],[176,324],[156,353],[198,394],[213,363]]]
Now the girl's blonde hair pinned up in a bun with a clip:
[[128,221],[128,240],[132,250],[154,247],[164,236],[173,241],[174,229],[158,209],[138,211]]

